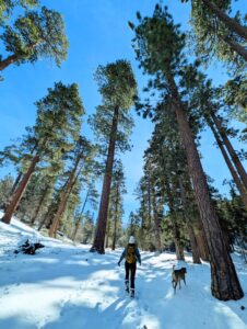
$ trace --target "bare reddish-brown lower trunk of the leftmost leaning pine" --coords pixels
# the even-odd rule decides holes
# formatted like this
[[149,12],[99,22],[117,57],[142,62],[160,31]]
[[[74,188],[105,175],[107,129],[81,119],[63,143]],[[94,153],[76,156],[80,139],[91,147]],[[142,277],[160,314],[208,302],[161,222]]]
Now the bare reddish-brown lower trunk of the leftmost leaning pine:
[[22,181],[20,182],[16,191],[14,192],[12,198],[11,198],[11,202],[10,204],[8,205],[7,209],[5,209],[5,213],[4,215],[2,216],[1,218],[1,222],[5,223],[5,224],[10,224],[11,222],[11,217],[13,216],[25,190],[26,190],[26,186],[32,178],[32,174],[34,173],[35,171],[35,167],[36,164],[38,163],[38,161],[40,160],[40,156],[37,155],[33,158],[31,164],[30,164],[30,168],[27,170],[27,172],[23,175],[23,179]]

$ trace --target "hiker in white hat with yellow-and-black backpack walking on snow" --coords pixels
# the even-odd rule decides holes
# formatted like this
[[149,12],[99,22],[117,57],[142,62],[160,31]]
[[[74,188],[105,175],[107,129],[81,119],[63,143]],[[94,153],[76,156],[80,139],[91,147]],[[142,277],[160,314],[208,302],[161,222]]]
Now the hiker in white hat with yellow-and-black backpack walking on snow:
[[119,259],[118,266],[120,266],[120,263],[122,259],[126,259],[125,268],[126,268],[126,291],[129,293],[129,272],[130,272],[130,296],[134,297],[134,275],[137,270],[137,260],[139,264],[141,265],[141,256],[139,252],[139,249],[136,246],[136,239],[134,237],[129,238],[129,243],[122,251],[122,254]]

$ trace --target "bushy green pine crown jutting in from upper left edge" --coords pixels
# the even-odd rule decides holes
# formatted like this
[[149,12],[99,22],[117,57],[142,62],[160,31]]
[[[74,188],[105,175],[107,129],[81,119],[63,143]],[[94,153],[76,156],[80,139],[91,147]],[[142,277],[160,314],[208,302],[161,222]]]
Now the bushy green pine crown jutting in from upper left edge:
[[0,58],[0,71],[12,64],[33,64],[39,58],[51,58],[60,66],[67,57],[69,44],[62,18],[45,7],[40,11],[27,11],[13,26],[4,26],[0,38],[10,53],[7,58]]

